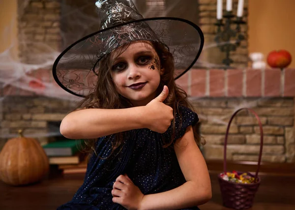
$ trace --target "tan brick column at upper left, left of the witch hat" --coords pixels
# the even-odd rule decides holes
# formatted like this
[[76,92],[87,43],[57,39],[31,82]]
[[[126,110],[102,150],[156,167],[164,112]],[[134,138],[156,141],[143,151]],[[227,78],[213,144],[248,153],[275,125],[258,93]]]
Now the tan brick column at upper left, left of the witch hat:
[[60,0],[18,0],[18,5],[20,60],[41,63],[40,53],[60,50]]

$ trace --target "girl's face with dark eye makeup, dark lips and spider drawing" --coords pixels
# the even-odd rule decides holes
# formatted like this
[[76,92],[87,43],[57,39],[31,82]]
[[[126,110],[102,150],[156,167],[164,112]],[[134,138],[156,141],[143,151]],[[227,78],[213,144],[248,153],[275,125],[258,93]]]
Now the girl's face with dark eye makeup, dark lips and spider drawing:
[[115,60],[111,70],[118,93],[134,106],[145,106],[156,97],[163,74],[157,53],[146,42],[131,43]]

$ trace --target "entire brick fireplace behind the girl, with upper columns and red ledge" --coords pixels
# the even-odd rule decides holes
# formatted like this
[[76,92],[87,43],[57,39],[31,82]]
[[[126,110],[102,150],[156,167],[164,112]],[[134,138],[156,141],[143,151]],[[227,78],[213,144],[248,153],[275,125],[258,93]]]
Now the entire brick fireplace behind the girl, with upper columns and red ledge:
[[[21,61],[35,62],[35,53],[41,50],[37,48],[38,43],[49,45],[56,51],[64,49],[60,28],[64,24],[61,21],[62,5],[67,0],[22,2],[19,0],[22,6],[18,18]],[[237,0],[233,2],[236,10]],[[245,20],[247,3],[245,0]],[[214,43],[215,4],[216,0],[198,0],[198,18],[191,19],[204,31],[205,46]],[[170,16],[177,17],[177,14]],[[247,34],[247,25],[242,30]],[[231,115],[238,108],[249,107],[258,113],[263,123],[265,144],[262,160],[294,163],[295,69],[248,69],[247,41],[243,41],[231,56],[235,60],[234,68],[214,69],[209,63],[221,63],[223,54],[216,47],[206,48],[200,58],[206,65],[199,63],[201,66],[195,66],[177,80],[177,84],[189,94],[200,116],[200,131],[207,142],[202,148],[205,158],[223,158],[225,131]],[[64,91],[53,81],[51,67],[39,68],[29,74],[41,82],[52,84],[55,91]],[[26,128],[25,135],[37,136],[41,144],[51,141],[48,134],[54,136],[59,129],[49,124],[58,124],[74,106],[74,101],[38,95],[37,92],[20,90],[15,86],[5,87],[2,96],[0,149],[9,136],[16,134],[20,128]],[[257,121],[246,112],[240,113],[230,129],[228,159],[256,161],[258,151]]]

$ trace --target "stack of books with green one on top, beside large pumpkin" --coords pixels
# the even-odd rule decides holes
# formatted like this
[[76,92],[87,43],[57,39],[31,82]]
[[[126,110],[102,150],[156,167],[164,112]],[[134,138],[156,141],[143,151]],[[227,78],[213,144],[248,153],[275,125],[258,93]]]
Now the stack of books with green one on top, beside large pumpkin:
[[49,164],[58,165],[63,174],[85,173],[87,160],[81,152],[83,140],[59,140],[43,146]]

